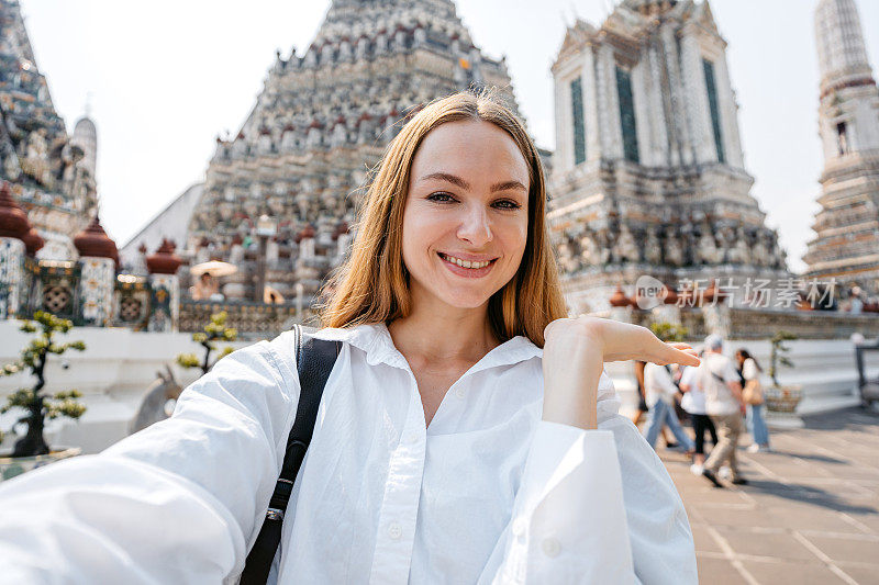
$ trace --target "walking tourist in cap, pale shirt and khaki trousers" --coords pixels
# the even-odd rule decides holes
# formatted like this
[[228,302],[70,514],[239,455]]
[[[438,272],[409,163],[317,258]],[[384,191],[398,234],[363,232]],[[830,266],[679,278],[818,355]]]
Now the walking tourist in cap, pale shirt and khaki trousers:
[[705,393],[705,412],[717,430],[717,445],[711,450],[702,475],[716,487],[723,487],[717,480],[717,472],[728,461],[732,483],[746,484],[747,480],[742,476],[736,458],[738,437],[744,431],[742,384],[733,360],[723,355],[723,339],[719,335],[705,338],[704,356],[697,380]]

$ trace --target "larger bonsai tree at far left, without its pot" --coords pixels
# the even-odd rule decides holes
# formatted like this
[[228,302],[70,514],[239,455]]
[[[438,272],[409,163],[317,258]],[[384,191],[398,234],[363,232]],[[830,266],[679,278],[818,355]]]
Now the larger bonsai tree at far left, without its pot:
[[20,330],[29,334],[38,335],[21,351],[21,358],[8,363],[0,371],[0,375],[12,375],[26,370],[36,378],[33,387],[21,389],[10,395],[7,404],[0,407],[0,413],[8,413],[13,408],[21,408],[26,414],[21,417],[15,425],[27,427],[24,436],[15,441],[12,457],[33,457],[44,455],[49,452],[48,445],[43,437],[43,428],[46,418],[54,419],[59,416],[77,419],[86,412],[77,398],[81,396],[76,390],[57,392],[47,395],[43,392],[46,385],[46,360],[49,353],[63,356],[68,349],[82,351],[86,344],[82,341],[69,341],[59,344],[55,341],[55,334],[66,334],[74,326],[73,322],[56,317],[51,313],[37,311],[34,313],[34,320],[23,322]]

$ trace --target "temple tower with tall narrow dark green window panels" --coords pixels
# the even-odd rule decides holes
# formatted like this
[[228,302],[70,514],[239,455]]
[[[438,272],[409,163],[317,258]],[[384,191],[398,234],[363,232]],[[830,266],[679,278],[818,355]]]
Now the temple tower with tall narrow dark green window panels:
[[552,69],[549,220],[571,311],[605,310],[641,274],[734,289],[787,273],[750,195],[706,0],[623,0],[600,27],[578,20]]

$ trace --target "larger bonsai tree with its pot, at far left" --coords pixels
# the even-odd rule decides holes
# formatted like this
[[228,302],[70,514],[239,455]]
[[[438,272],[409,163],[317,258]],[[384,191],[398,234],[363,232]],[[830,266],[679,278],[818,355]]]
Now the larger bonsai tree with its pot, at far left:
[[21,358],[8,363],[0,370],[0,375],[13,375],[29,371],[36,379],[32,387],[20,389],[7,398],[0,407],[0,414],[10,410],[23,410],[25,414],[13,425],[25,427],[22,435],[9,453],[0,454],[0,481],[8,480],[25,471],[48,464],[59,459],[76,455],[79,448],[49,448],[43,436],[46,418],[68,417],[78,419],[86,407],[77,398],[81,396],[76,390],[46,394],[45,368],[49,355],[63,356],[67,350],[84,351],[82,341],[58,342],[56,334],[66,334],[74,326],[73,322],[56,317],[51,313],[37,311],[34,320],[22,323],[20,330],[29,334],[38,333],[31,342],[21,350]]

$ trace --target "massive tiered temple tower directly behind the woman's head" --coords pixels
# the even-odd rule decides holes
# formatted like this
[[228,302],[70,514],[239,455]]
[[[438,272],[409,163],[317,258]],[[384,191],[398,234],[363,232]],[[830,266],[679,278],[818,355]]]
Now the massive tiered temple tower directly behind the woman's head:
[[518,109],[504,60],[474,46],[452,0],[333,0],[304,53],[278,54],[240,132],[218,138],[183,256],[237,265],[227,299],[262,301],[263,283],[314,294],[407,113],[471,86]]

